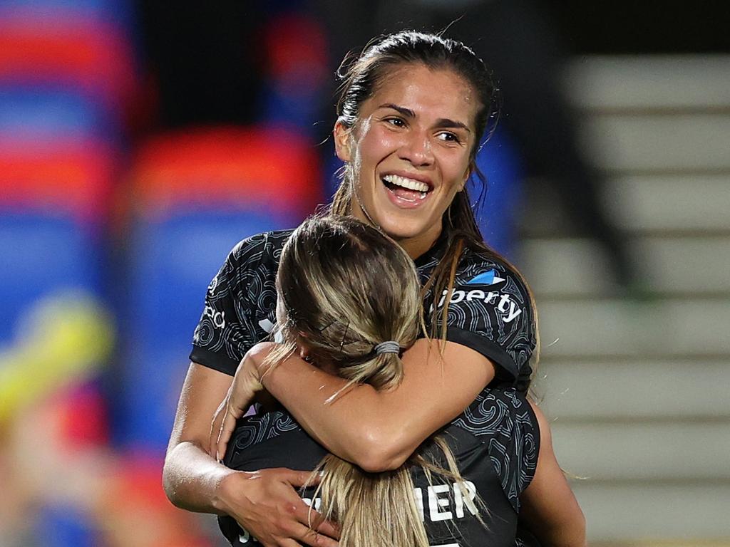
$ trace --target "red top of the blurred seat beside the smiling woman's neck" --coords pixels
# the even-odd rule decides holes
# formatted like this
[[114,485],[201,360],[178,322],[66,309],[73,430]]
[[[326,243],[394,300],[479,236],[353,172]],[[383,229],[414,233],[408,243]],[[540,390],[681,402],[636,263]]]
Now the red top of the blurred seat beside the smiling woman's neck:
[[135,195],[147,212],[271,209],[302,217],[321,201],[310,141],[270,128],[214,128],[157,137],[142,147]]

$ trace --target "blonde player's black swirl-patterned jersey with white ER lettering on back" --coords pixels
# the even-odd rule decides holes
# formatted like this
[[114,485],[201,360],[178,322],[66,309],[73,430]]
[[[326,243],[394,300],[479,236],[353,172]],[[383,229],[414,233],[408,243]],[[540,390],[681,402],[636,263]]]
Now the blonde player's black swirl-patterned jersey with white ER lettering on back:
[[[512,546],[519,495],[534,476],[539,453],[537,419],[526,397],[515,388],[487,388],[437,435],[453,451],[464,481],[429,479],[412,465],[413,495],[431,545]],[[447,467],[434,442],[424,443],[420,453]],[[223,461],[239,470],[314,469],[325,454],[287,411],[277,410],[239,421]],[[301,492],[317,508],[314,494]],[[259,545],[230,517],[219,517],[219,523],[232,545]]]

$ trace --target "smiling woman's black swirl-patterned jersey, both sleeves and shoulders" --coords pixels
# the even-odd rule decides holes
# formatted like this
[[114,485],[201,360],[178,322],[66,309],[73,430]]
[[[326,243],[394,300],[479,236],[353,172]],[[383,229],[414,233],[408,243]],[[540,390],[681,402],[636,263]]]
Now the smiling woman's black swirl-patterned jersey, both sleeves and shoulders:
[[[193,362],[233,375],[245,352],[266,338],[275,322],[276,271],[289,236],[291,230],[262,233],[231,250],[208,287],[193,335]],[[444,245],[437,242],[415,261],[422,283],[438,264]],[[448,306],[447,340],[480,352],[496,365],[500,381],[526,391],[535,346],[534,312],[519,276],[496,257],[464,249],[448,303],[446,297],[426,293],[427,324],[432,306]]]

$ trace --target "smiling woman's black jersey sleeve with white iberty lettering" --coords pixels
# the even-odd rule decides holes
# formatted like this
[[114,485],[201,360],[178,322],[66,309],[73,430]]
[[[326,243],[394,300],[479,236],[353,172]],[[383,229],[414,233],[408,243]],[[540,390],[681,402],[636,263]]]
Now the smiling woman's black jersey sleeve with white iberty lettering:
[[[439,296],[445,306],[446,291]],[[535,349],[534,311],[527,288],[502,263],[473,261],[458,272],[447,309],[447,334],[496,365],[496,378],[529,383]]]

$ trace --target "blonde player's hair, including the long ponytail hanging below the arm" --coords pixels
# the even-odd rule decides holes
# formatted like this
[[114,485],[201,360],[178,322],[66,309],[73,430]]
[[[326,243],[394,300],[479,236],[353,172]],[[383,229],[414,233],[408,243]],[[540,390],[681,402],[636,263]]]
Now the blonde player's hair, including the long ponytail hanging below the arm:
[[[401,247],[375,228],[350,217],[314,217],[297,228],[283,249],[277,289],[286,321],[280,360],[307,346],[315,363],[328,363],[351,383],[396,387],[403,377],[400,354],[374,346],[396,341],[401,349],[423,330],[420,284]],[[343,389],[337,394],[346,396]],[[445,442],[450,471],[416,455],[413,462],[458,478]],[[318,470],[320,512],[341,528],[342,547],[428,547],[413,497],[410,462],[397,470],[366,473],[329,454]],[[429,477],[430,477],[429,473]]]

